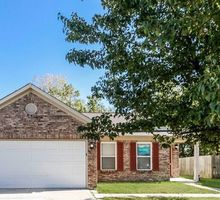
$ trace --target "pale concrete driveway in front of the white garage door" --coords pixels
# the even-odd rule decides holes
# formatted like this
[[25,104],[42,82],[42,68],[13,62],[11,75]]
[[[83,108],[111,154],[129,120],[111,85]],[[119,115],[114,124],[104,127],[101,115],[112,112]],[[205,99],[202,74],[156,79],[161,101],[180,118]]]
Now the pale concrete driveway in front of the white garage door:
[[89,190],[1,189],[0,200],[94,200]]

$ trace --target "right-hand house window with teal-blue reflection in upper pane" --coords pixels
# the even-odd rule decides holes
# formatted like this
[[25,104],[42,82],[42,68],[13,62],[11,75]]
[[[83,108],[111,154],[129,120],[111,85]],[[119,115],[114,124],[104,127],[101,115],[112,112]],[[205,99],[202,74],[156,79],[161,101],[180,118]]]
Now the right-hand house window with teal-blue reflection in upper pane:
[[137,143],[137,169],[151,170],[152,169],[152,144],[147,142]]

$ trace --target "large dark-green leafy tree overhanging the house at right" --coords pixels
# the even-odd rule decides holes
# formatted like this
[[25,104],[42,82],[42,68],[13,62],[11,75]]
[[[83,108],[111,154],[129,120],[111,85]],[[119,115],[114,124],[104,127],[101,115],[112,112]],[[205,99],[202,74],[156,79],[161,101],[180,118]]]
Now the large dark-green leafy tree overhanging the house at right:
[[[167,126],[187,142],[220,143],[220,4],[218,0],[101,0],[92,22],[59,15],[66,40],[87,45],[66,59],[104,69],[93,87],[128,122],[109,114],[80,130],[86,137],[153,132]],[[157,136],[162,141],[169,140]],[[169,140],[168,142],[172,142]]]

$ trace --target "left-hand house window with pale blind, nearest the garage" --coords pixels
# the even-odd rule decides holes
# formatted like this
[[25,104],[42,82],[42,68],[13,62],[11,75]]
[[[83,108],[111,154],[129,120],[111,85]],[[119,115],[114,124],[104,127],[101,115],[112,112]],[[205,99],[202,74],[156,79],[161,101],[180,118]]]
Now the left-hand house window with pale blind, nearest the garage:
[[116,143],[101,143],[101,169],[116,170]]

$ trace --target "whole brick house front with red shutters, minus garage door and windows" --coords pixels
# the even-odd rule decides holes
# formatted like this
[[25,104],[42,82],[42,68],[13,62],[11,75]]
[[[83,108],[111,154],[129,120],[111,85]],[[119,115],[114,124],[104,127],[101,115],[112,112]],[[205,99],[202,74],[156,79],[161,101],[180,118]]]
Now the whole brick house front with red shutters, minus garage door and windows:
[[[37,112],[25,112],[28,103],[37,105]],[[80,141],[77,128],[90,119],[57,99],[45,94],[33,85],[27,85],[0,100],[0,142],[15,141]],[[108,142],[104,138],[102,142]],[[134,144],[139,141],[152,143],[152,170],[136,170],[131,155]],[[152,136],[121,136],[115,140],[117,146],[117,170],[101,170],[100,143],[87,141],[87,187],[94,188],[98,181],[154,181],[168,180],[178,175],[178,149],[162,149],[154,145]],[[133,146],[132,146],[133,145]],[[154,146],[154,148],[153,148]],[[172,159],[171,159],[172,155]],[[132,160],[133,159],[133,160]],[[171,167],[170,167],[171,164]],[[133,167],[132,167],[133,165]],[[1,177],[0,177],[1,178]]]

